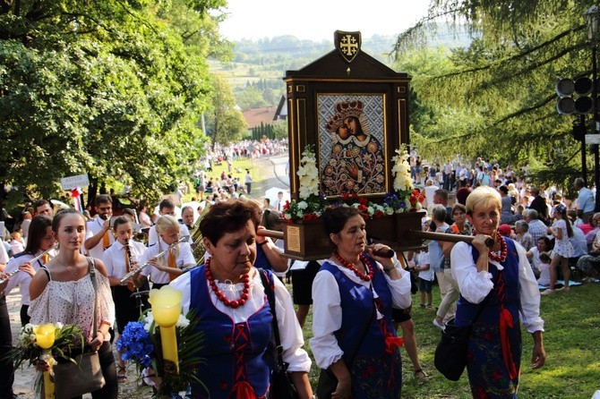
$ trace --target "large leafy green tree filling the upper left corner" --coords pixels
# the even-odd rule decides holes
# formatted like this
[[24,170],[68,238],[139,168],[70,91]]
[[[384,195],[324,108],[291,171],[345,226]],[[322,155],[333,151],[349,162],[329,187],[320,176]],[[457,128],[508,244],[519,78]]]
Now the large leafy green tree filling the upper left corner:
[[212,93],[204,60],[210,48],[227,54],[219,16],[207,11],[224,4],[4,5],[0,183],[49,197],[60,177],[88,173],[92,186],[112,177],[154,199],[188,174],[203,148],[197,121]]

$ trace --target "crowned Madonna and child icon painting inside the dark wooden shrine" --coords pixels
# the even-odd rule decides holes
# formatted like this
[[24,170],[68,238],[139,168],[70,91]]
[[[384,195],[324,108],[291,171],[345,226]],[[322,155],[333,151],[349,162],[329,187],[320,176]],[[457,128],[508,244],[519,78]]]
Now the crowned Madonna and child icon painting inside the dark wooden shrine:
[[317,96],[321,193],[387,192],[384,104],[383,94]]

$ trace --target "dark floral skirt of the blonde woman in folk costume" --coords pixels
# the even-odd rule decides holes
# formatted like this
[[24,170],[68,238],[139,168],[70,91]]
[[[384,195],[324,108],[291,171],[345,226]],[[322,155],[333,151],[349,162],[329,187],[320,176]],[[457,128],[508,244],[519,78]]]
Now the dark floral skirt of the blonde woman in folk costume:
[[[517,370],[521,364],[521,330],[519,323],[508,330],[510,351]],[[502,359],[500,327],[475,323],[467,351],[467,373],[471,393],[476,399],[517,397],[519,377],[511,380]]]

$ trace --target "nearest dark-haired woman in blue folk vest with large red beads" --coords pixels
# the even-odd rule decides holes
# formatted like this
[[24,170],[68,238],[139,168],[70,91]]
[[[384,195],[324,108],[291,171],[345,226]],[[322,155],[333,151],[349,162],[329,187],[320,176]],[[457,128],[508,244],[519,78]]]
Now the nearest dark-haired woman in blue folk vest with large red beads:
[[210,207],[200,230],[211,257],[201,267],[177,278],[171,286],[183,293],[184,312],[194,310],[198,329],[207,343],[198,351],[204,358],[199,375],[204,386],[192,385],[194,398],[258,399],[270,397],[270,376],[277,361],[273,339],[273,312],[277,315],[283,360],[302,399],[313,395],[307,372],[308,354],[286,287],[263,270],[274,293],[270,308],[256,259],[260,219],[253,201],[227,200]]

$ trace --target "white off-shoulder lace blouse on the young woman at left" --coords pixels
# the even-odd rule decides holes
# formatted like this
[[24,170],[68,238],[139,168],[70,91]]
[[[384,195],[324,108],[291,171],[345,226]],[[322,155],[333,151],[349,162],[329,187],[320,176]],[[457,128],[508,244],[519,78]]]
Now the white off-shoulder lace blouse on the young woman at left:
[[[43,273],[43,272],[42,272]],[[101,323],[115,322],[115,302],[110,293],[107,277],[96,270],[96,291],[98,327]],[[83,330],[83,335],[91,340],[94,315],[94,287],[89,274],[77,281],[54,281],[50,271],[50,281],[38,298],[31,301],[28,313],[30,323],[44,324],[61,322],[74,324]],[[110,340],[110,335],[104,337]]]

